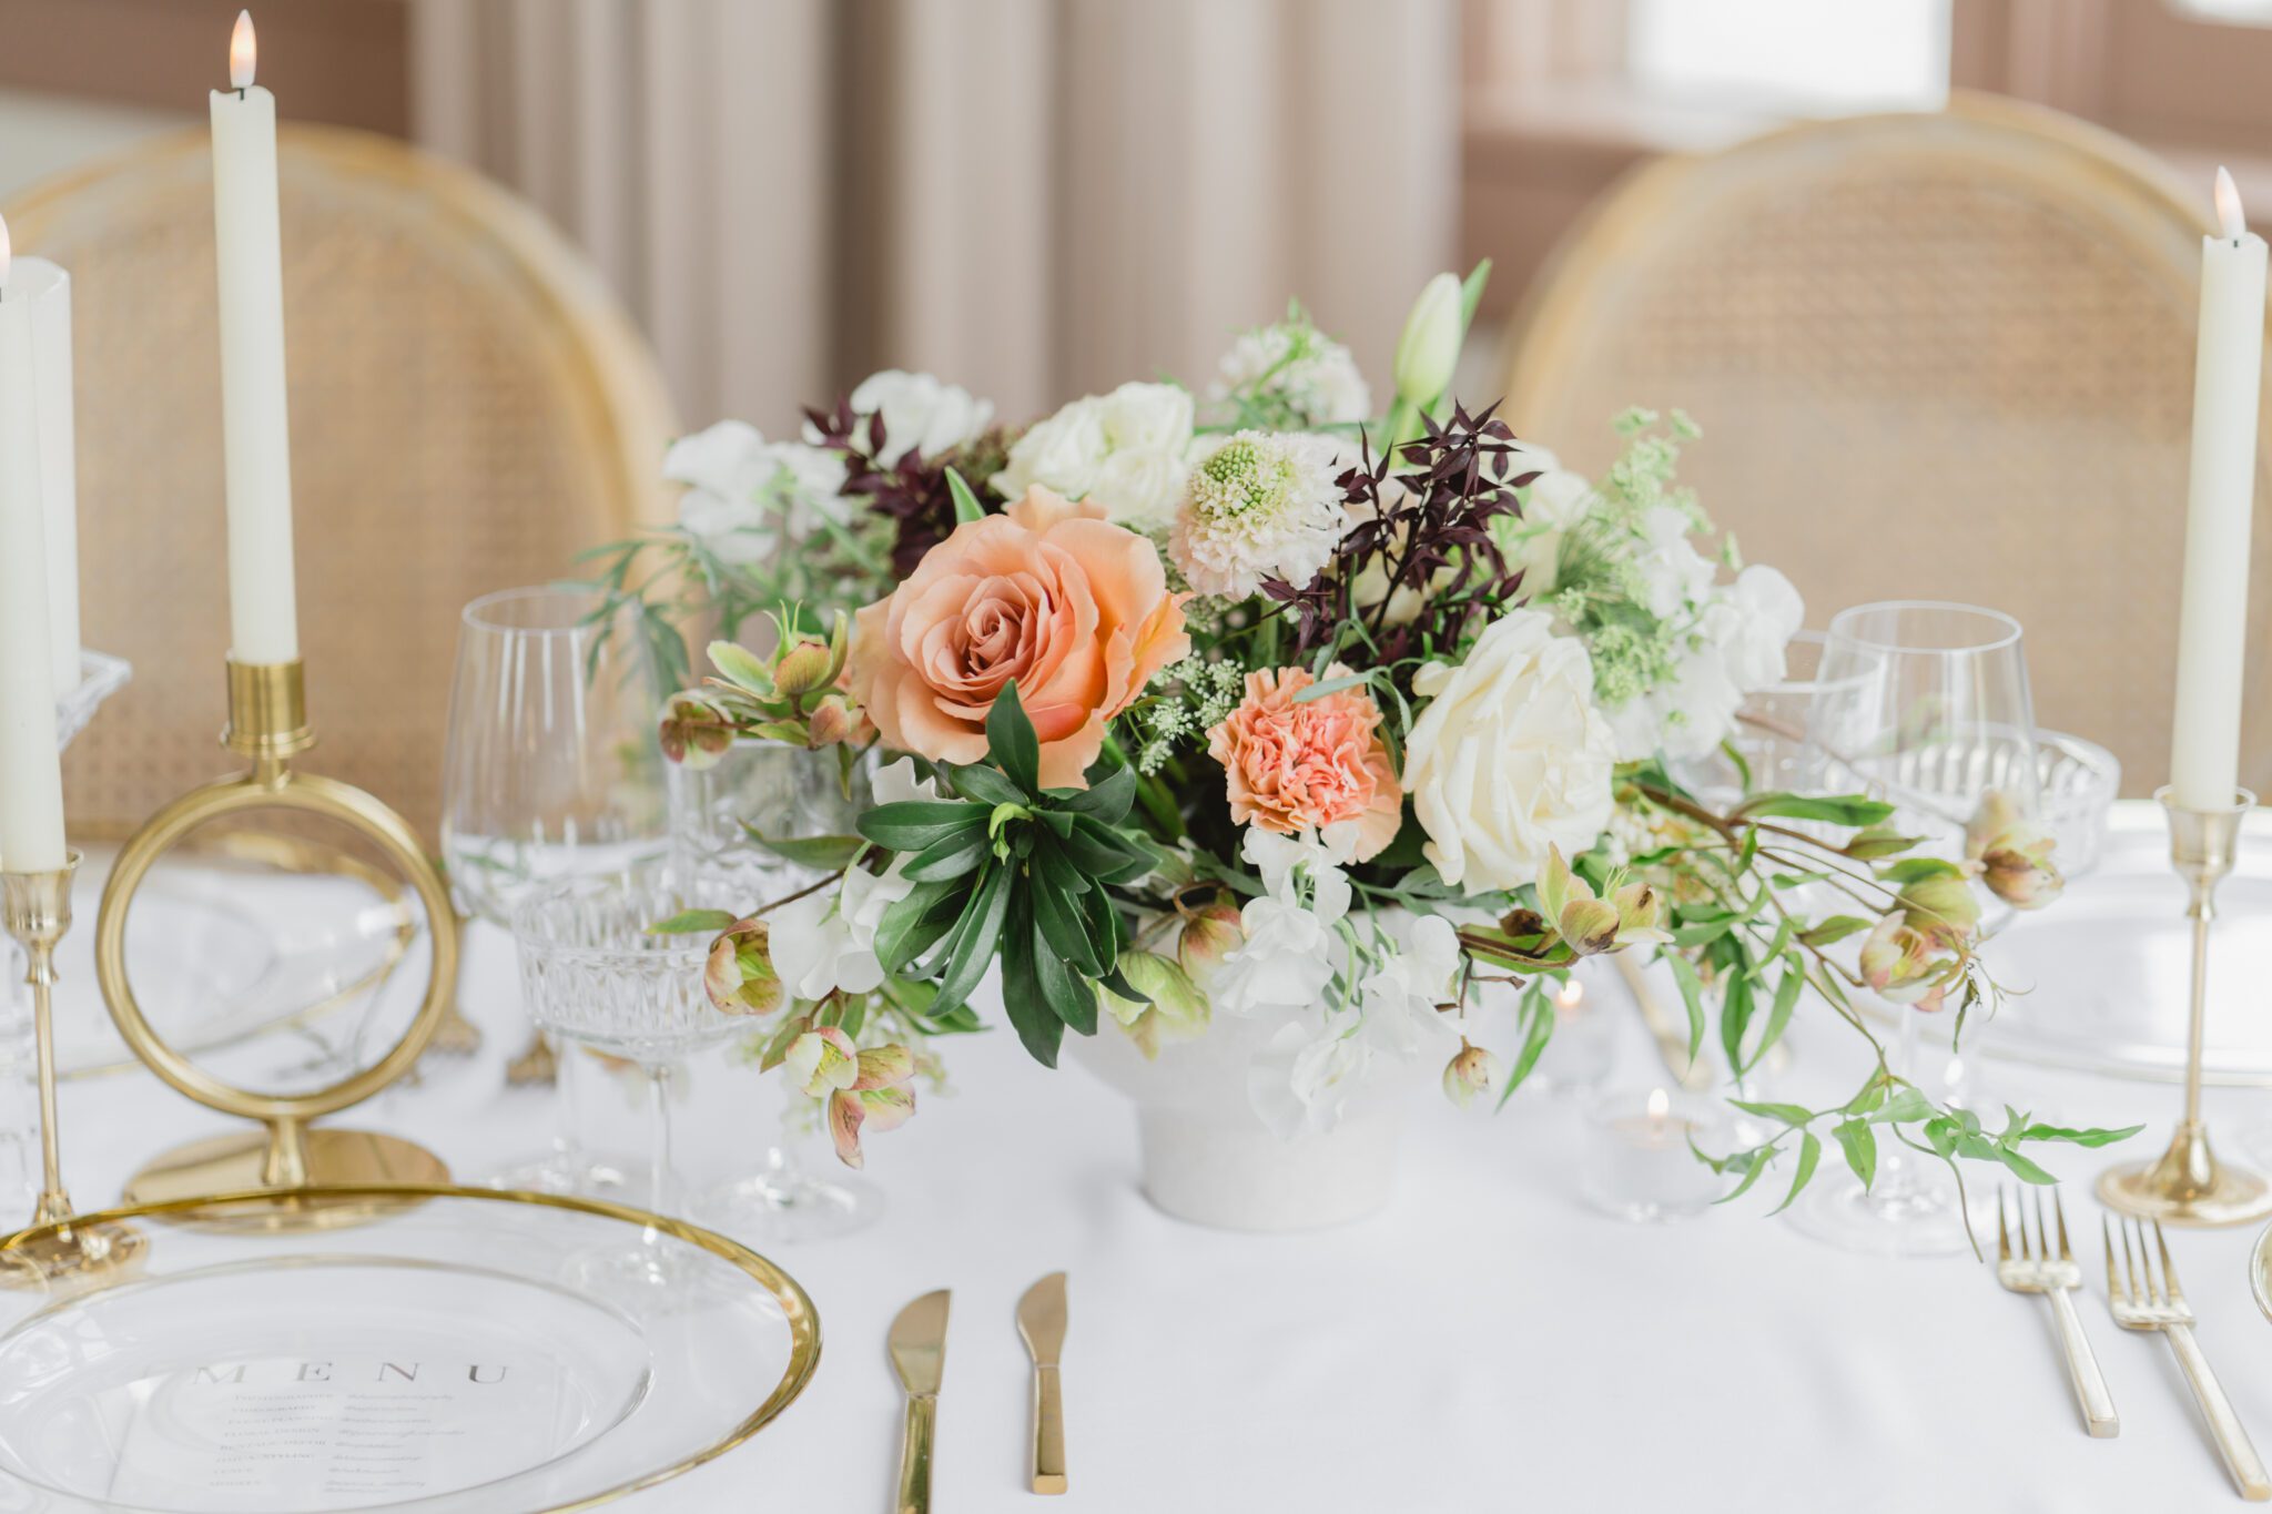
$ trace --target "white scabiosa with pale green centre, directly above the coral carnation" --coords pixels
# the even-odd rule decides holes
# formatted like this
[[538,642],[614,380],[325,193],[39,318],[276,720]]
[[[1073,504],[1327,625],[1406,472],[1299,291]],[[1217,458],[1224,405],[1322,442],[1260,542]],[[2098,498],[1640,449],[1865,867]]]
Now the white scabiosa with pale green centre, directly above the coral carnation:
[[1202,595],[1243,599],[1263,579],[1309,588],[1350,529],[1338,454],[1304,431],[1229,436],[1191,470],[1168,556]]

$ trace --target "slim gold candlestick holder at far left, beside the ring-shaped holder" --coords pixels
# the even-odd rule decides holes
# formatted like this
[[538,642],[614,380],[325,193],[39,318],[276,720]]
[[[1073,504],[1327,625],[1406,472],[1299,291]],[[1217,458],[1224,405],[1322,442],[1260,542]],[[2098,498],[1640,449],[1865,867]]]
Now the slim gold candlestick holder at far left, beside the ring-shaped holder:
[[134,1264],[143,1235],[120,1223],[73,1223],[77,1210],[64,1192],[61,1130],[55,1117],[55,947],[70,931],[70,878],[80,869],[73,851],[52,872],[0,872],[0,928],[23,947],[32,985],[32,1040],[39,1062],[39,1203],[27,1230],[48,1233],[18,1248],[18,1269],[0,1273],[0,1285],[52,1285],[91,1278]]

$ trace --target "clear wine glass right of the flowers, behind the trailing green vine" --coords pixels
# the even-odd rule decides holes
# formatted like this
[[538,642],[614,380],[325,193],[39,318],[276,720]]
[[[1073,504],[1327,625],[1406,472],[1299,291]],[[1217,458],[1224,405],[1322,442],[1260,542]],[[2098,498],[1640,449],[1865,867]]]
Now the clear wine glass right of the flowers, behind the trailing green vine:
[[[1822,781],[1895,806],[1893,826],[1922,838],[1913,856],[1963,860],[1965,826],[1993,794],[2020,817],[2040,810],[2036,710],[2027,688],[2020,622],[1968,604],[1888,602],[1831,620],[1820,683],[1858,679],[1861,692],[1818,701],[1809,722]],[[1993,901],[1988,901],[1993,906]],[[1983,924],[1995,924],[1990,908]],[[1895,1076],[1924,1080],[1924,1010],[1890,1006],[1899,1037]],[[1954,1012],[1945,1024],[1954,1024]],[[1977,1060],[1977,1058],[1972,1058]],[[1936,1080],[1961,1062],[1949,1055]],[[1970,1076],[1970,1074],[1968,1074]],[[1977,1090],[1938,1087],[1945,1101],[1972,1103]],[[1815,1183],[1793,1208],[1809,1235],[1874,1255],[1949,1255],[1970,1230],[1954,1185],[1931,1160],[1899,1142],[1879,1142],[1877,1178],[1852,1174]]]

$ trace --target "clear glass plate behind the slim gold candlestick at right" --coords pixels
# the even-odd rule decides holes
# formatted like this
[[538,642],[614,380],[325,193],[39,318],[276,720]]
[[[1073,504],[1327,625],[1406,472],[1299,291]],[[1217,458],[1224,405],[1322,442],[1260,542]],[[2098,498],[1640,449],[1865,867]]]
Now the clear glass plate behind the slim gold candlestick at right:
[[[2258,1006],[2261,985],[2272,981],[2272,813],[2249,815],[2211,928],[2202,1078],[2272,1087],[2272,1019]],[[1983,960],[2011,994],[1995,1019],[1965,1026],[1968,1053],[2181,1083],[2192,926],[2163,808],[2118,801],[2097,867],[2072,878],[2052,908],[2013,915]],[[1865,1010],[1893,1024],[1893,1010]]]

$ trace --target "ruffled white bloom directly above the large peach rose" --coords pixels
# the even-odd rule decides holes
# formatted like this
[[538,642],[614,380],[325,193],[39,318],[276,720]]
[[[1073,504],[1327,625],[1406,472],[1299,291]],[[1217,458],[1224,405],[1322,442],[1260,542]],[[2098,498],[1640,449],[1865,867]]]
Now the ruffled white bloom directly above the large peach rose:
[[1156,531],[1184,493],[1191,436],[1191,390],[1122,384],[1034,422],[991,483],[1004,499],[1022,499],[1036,483],[1066,499],[1093,497],[1113,522]]

